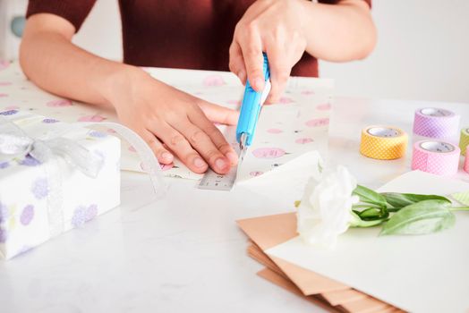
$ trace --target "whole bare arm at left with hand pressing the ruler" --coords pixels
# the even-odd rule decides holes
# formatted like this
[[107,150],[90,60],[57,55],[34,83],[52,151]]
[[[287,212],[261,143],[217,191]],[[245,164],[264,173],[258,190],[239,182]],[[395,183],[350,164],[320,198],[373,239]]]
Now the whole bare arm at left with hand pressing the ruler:
[[209,121],[234,124],[235,111],[174,89],[140,68],[92,55],[72,44],[74,32],[69,21],[53,14],[29,18],[20,62],[30,80],[63,97],[113,106],[160,163],[170,164],[176,155],[196,173],[208,166],[226,173],[237,162],[233,148]]

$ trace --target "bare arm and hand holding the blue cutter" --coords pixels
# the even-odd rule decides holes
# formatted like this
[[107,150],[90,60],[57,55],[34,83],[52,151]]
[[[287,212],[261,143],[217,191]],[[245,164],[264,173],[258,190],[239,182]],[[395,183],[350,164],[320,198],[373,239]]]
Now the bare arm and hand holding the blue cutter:
[[376,43],[370,8],[362,0],[317,4],[305,0],[258,0],[243,15],[230,47],[230,70],[261,90],[262,51],[269,56],[275,102],[304,51],[345,62],[362,59]]

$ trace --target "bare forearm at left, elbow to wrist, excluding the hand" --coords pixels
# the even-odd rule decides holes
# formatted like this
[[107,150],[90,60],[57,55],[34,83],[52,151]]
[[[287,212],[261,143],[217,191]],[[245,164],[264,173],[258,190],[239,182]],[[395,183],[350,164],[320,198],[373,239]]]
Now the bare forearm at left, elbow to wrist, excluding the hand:
[[[34,22],[34,21],[33,21]],[[67,34],[47,26],[25,30],[20,55],[23,72],[40,88],[94,105],[111,105],[117,84],[137,68],[92,55]],[[130,80],[130,79],[129,79]]]

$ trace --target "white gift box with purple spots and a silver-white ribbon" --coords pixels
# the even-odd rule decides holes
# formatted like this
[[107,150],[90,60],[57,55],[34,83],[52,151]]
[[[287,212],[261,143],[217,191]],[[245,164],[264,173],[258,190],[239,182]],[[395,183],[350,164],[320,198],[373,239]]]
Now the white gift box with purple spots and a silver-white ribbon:
[[[120,204],[120,140],[105,132],[16,110],[2,112],[0,118],[13,123],[27,137],[43,140],[40,142],[71,140],[68,142],[85,151],[81,156],[85,165],[98,160],[93,177],[83,171],[80,162],[74,165],[71,158],[60,153],[42,163],[31,154],[7,157],[6,161],[3,156],[0,256],[13,258]],[[59,147],[59,152],[64,148],[69,147]]]

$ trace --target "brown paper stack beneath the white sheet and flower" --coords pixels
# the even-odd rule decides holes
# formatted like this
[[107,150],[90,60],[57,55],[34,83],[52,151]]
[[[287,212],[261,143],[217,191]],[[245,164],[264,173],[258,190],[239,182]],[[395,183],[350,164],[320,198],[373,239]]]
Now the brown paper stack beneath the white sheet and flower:
[[351,313],[403,312],[388,303],[356,291],[350,286],[303,267],[295,266],[281,258],[269,258],[264,250],[297,236],[294,213],[255,217],[237,223],[251,240],[248,248],[249,256],[269,269],[269,272],[261,271],[263,274],[259,275],[272,283],[284,288],[287,285],[289,287],[286,289],[291,292],[301,292],[305,298],[311,297],[316,302],[320,300],[320,303],[328,303],[330,308],[335,311]]

